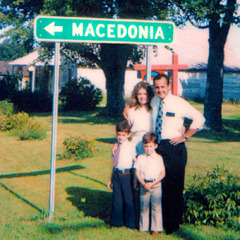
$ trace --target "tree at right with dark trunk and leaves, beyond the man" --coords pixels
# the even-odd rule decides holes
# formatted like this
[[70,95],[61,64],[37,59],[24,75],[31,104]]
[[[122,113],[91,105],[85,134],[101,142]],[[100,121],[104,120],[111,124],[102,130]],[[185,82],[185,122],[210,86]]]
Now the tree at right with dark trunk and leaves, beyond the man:
[[193,26],[209,29],[209,57],[204,100],[206,125],[222,131],[224,46],[232,24],[240,23],[236,0],[172,1],[172,18],[177,24],[189,21]]

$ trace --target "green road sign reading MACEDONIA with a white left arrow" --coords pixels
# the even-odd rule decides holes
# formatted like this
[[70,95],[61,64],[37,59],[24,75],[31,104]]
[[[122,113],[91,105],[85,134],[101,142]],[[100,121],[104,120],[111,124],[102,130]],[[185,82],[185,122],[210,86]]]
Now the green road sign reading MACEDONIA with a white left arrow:
[[172,22],[38,16],[38,41],[158,44],[173,41]]

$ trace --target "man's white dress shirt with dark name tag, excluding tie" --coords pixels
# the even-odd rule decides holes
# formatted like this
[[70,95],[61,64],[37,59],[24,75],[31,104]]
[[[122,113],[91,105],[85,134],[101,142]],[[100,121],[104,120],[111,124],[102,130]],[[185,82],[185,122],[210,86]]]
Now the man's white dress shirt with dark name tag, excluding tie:
[[[155,132],[156,118],[158,114],[160,98],[155,95],[151,101],[152,107],[152,131]],[[163,100],[163,116],[162,116],[162,139],[172,139],[182,135],[181,129],[184,118],[192,120],[190,129],[203,128],[205,118],[196,110],[189,102],[183,98],[168,93]]]

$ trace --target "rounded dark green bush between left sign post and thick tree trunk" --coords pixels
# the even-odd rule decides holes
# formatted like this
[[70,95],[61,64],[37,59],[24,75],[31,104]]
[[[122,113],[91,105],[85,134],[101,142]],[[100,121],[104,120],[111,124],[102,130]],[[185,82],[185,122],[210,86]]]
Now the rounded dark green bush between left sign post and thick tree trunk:
[[66,83],[60,92],[63,109],[67,111],[94,110],[102,99],[102,91],[85,78]]

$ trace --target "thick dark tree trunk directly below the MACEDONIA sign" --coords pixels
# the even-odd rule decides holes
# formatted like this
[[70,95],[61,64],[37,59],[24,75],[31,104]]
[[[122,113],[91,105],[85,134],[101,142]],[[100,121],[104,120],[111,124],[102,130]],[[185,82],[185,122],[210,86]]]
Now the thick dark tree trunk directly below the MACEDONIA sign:
[[102,44],[101,68],[106,77],[107,105],[104,113],[108,116],[122,116],[125,106],[124,82],[131,45]]

